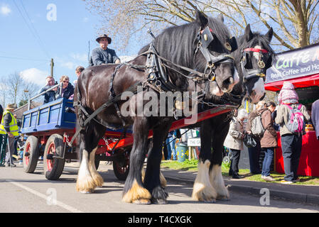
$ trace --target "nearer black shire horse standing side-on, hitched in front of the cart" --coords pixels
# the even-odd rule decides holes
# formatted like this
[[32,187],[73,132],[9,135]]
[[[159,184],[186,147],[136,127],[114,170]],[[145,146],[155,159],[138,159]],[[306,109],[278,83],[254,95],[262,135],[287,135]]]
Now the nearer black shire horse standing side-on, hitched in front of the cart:
[[[165,69],[168,80],[177,91],[183,92],[188,87],[188,79],[185,74],[189,72],[181,67],[188,67],[188,69],[197,72],[205,72],[207,69],[207,58],[202,54],[202,51],[196,51],[200,46],[197,41],[198,35],[202,35],[204,30],[208,33],[205,33],[207,36],[204,35],[203,39],[205,41],[210,40],[210,43],[206,43],[205,47],[203,46],[207,50],[205,52],[206,57],[208,55],[212,62],[216,63],[215,65],[210,64],[212,70],[215,71],[214,78],[204,78],[209,84],[210,89],[208,90],[210,92],[213,89],[218,92],[231,92],[236,80],[234,79],[235,67],[234,61],[227,56],[231,54],[229,43],[233,42],[229,38],[230,35],[226,26],[218,18],[207,18],[200,11],[196,11],[195,21],[183,26],[167,28],[153,40],[153,46],[158,52],[158,56],[166,59],[162,62],[169,65]],[[205,43],[204,40],[202,40],[202,43]],[[142,50],[147,49],[143,48]],[[134,144],[129,157],[130,170],[124,185],[122,201],[137,204],[149,204],[151,202],[165,204],[167,202],[168,194],[161,187],[159,178],[161,147],[174,118],[171,116],[145,116],[144,114],[139,116],[136,114],[136,109],[146,104],[144,100],[138,102],[138,96],[146,94],[147,91],[156,90],[156,86],[146,83],[142,92],[134,94],[129,99],[117,101],[117,107],[114,104],[107,106],[87,126],[83,124],[87,119],[86,114],[84,114],[84,111],[79,111],[82,106],[87,114],[92,114],[111,100],[114,94],[120,95],[127,89],[134,87],[134,84],[146,82],[149,76],[146,74],[147,70],[134,67],[134,65],[145,66],[146,58],[146,55],[139,55],[128,62],[129,65],[88,67],[80,75],[77,81],[78,87],[75,89],[75,103],[80,104],[80,107],[76,107],[77,126],[82,129],[77,140],[80,142],[80,154],[82,156],[77,176],[77,192],[94,192],[96,187],[103,184],[103,179],[94,166],[94,154],[99,140],[106,131],[106,126],[121,128],[124,125],[130,126],[133,124]],[[116,75],[114,75],[115,72]],[[145,85],[145,83],[143,84]],[[108,92],[111,91],[110,88],[113,88],[113,95]],[[159,96],[157,92],[156,94]],[[128,106],[129,112],[134,114],[121,116],[117,109],[122,110],[124,105]],[[102,122],[103,125],[98,121]],[[144,182],[142,182],[141,169],[147,152],[148,132],[151,129],[153,129],[153,148],[148,153],[146,173]]]

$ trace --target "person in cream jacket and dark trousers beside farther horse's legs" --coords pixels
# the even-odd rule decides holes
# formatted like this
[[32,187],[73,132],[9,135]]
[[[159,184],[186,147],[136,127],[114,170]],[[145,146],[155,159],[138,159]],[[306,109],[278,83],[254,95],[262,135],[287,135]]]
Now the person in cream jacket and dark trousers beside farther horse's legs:
[[229,167],[229,176],[234,179],[239,179],[238,163],[240,151],[244,150],[244,120],[248,118],[247,111],[239,109],[237,116],[232,118],[229,124],[229,131],[225,138],[224,146],[229,148],[232,153],[232,160]]

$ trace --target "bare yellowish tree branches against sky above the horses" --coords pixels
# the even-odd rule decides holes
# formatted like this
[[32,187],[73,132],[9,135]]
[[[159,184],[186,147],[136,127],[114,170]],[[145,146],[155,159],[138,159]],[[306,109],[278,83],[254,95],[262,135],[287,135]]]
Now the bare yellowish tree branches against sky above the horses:
[[158,33],[168,26],[193,21],[195,9],[209,16],[222,13],[232,35],[242,34],[248,23],[261,33],[272,27],[275,50],[292,50],[319,41],[318,0],[85,1],[90,11],[101,16],[99,31],[116,38],[117,48],[125,48],[131,37],[145,42],[146,28]]

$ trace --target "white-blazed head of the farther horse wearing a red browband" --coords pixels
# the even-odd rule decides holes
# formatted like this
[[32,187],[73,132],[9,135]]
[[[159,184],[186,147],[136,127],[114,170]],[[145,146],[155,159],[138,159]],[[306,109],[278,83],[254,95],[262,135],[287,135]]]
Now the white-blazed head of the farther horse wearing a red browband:
[[240,59],[239,73],[246,88],[246,97],[253,104],[264,99],[266,70],[271,67],[274,50],[270,47],[273,29],[265,35],[252,33],[250,25],[245,28],[244,36],[239,38],[239,49],[235,57]]

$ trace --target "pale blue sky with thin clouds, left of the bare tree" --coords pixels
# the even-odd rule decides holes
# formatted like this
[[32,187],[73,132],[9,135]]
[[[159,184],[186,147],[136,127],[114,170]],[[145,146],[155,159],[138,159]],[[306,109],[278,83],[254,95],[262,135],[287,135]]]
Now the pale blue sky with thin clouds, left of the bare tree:
[[[75,67],[88,65],[89,41],[90,50],[98,46],[99,16],[82,0],[0,0],[0,28],[0,77],[18,72],[41,85],[53,58],[55,79],[66,74],[72,82]],[[131,46],[117,55],[136,55],[141,46]]]

